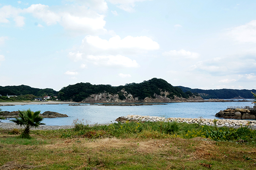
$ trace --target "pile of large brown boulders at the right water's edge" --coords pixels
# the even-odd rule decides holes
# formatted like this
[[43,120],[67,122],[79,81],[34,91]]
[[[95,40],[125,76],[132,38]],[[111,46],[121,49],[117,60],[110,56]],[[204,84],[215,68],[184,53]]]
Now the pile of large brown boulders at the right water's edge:
[[254,111],[241,108],[219,111],[215,116],[222,117],[224,119],[256,119],[256,113],[254,113]]

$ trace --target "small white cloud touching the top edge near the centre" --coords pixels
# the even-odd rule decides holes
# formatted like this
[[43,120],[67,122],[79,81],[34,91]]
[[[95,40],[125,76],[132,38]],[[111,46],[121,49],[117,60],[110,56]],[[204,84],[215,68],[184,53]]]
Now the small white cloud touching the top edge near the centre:
[[133,12],[136,2],[143,2],[146,0],[108,0],[108,1],[114,5],[117,5],[116,7],[124,11]]

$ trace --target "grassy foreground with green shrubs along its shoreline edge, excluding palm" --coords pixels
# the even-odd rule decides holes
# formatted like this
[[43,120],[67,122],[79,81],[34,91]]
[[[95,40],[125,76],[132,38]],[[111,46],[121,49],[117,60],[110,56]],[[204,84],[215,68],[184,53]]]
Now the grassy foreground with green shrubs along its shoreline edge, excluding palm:
[[[256,130],[145,122],[84,125],[67,130],[0,130],[0,169],[253,170]],[[2,166],[2,167],[1,167]]]

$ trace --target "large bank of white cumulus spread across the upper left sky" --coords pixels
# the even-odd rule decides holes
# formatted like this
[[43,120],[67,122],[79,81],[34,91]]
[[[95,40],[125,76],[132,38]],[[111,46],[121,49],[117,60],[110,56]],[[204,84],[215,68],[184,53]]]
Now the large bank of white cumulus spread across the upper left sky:
[[[85,4],[88,6],[94,6],[98,3],[106,5],[104,0],[96,0],[96,2],[99,1],[98,3],[93,0],[90,1],[90,3],[87,2]],[[9,18],[13,18],[16,26],[22,27],[25,24],[25,17],[20,16],[20,14],[27,13],[44,21],[47,26],[59,23],[66,30],[71,31],[72,34],[103,34],[107,32],[104,28],[106,23],[104,20],[105,15],[98,14],[96,11],[93,11],[93,8],[79,6],[78,4],[58,8],[55,6],[49,7],[43,4],[32,4],[24,9],[3,6],[0,8],[0,23],[10,23]]]

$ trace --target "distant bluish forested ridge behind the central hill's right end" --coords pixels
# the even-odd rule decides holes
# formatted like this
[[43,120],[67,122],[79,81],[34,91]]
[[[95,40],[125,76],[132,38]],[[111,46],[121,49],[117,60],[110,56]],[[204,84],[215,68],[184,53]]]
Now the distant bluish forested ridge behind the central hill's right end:
[[198,88],[187,88],[183,86],[176,86],[181,88],[183,92],[191,91],[192,93],[198,93],[203,99],[233,99],[233,98],[244,98],[244,99],[253,99],[253,93],[256,93],[256,90],[236,90],[236,89],[216,89],[216,90],[202,90]]

